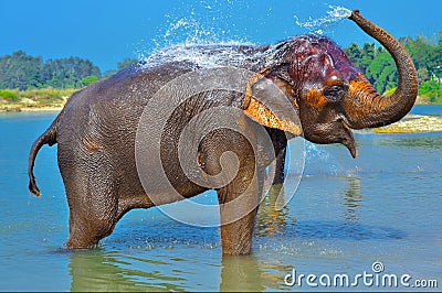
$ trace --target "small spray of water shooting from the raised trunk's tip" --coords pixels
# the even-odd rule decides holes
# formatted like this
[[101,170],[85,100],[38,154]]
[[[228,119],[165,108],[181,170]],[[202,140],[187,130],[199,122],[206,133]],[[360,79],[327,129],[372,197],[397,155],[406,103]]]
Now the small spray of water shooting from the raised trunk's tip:
[[301,22],[298,17],[294,15],[296,24],[303,29],[306,29],[309,33],[323,35],[324,29],[327,29],[328,26],[336,24],[340,20],[351,15],[351,10],[344,7],[328,6],[328,8],[332,10],[327,11],[327,15],[316,20],[309,19],[306,22]]

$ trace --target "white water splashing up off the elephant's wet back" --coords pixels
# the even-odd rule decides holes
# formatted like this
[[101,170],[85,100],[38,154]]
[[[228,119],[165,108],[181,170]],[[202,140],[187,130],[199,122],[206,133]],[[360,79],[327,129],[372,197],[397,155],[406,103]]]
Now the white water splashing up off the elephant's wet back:
[[[185,1],[175,11],[166,15],[167,26],[162,33],[151,40],[155,44],[149,53],[138,52],[144,67],[152,67],[168,62],[189,62],[198,67],[220,67],[235,65],[250,61],[244,52],[234,47],[252,45],[232,37],[230,29],[234,22],[230,21],[233,7],[243,8],[232,0],[199,0],[190,4]],[[188,11],[182,15],[182,11]],[[181,15],[175,18],[173,15]],[[232,23],[231,25],[229,23]],[[229,35],[229,36],[228,36]]]

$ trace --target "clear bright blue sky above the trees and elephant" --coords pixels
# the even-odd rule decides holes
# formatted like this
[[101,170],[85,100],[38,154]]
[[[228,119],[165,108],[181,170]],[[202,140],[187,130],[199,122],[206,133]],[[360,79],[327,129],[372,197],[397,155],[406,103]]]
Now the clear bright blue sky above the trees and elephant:
[[[360,9],[398,37],[442,31],[441,0],[1,0],[0,55],[80,56],[106,70],[194,34],[275,43],[308,32],[294,15],[318,19],[329,6]],[[341,46],[371,42],[348,20],[322,29]]]

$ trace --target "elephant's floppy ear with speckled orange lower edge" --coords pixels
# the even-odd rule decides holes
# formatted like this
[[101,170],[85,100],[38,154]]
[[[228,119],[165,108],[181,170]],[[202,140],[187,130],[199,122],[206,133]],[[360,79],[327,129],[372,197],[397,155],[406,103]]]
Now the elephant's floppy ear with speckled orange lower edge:
[[248,83],[242,109],[262,126],[301,135],[301,122],[293,87],[283,78],[264,68]]

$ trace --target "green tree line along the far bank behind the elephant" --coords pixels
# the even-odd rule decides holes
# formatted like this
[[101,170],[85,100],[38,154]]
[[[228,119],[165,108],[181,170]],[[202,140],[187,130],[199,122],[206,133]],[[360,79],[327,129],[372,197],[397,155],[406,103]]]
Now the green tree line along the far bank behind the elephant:
[[[442,102],[442,32],[438,42],[425,36],[402,37],[400,42],[414,62],[420,95],[430,101]],[[390,54],[375,43],[356,43],[344,48],[350,62],[373,84],[379,93],[392,90],[398,73]],[[117,64],[118,70],[136,62],[126,58]],[[91,61],[80,57],[49,59],[30,56],[23,51],[0,57],[0,89],[82,88],[106,78],[117,70],[102,73]]]

